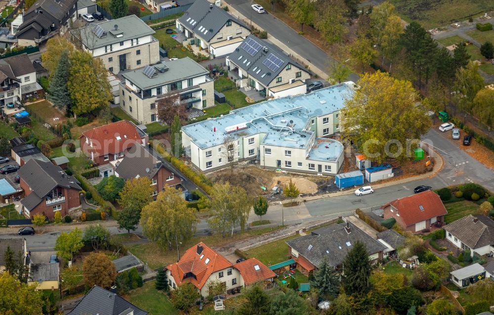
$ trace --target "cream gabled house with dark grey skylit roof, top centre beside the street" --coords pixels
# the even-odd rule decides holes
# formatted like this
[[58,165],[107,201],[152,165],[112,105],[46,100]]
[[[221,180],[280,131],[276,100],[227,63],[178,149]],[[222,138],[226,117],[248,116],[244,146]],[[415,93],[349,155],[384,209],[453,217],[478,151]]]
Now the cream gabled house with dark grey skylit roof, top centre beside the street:
[[206,49],[211,58],[234,51],[250,34],[244,22],[206,0],[196,0],[175,23],[183,45]]

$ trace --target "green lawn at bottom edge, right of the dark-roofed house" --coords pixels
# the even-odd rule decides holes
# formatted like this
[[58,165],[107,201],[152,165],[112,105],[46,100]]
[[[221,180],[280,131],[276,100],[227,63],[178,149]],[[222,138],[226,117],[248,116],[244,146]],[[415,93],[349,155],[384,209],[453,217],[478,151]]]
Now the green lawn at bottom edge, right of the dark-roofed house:
[[149,312],[149,315],[178,314],[173,305],[168,301],[166,294],[155,289],[156,280],[144,283],[144,285],[128,293],[128,300],[137,307]]

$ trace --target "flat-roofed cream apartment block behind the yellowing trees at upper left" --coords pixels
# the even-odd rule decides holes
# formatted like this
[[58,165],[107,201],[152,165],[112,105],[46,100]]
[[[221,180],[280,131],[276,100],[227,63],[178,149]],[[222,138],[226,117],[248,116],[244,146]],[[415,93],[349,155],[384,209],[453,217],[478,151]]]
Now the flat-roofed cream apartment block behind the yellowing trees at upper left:
[[153,37],[156,32],[135,15],[91,24],[70,33],[85,51],[103,60],[105,68],[115,74],[160,61],[160,43]]

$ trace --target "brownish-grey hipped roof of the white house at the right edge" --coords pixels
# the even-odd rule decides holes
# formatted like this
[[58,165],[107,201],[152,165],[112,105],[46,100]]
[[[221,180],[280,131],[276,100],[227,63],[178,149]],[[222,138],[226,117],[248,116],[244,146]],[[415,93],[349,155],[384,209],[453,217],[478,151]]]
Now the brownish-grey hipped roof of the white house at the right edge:
[[444,229],[472,249],[494,243],[494,221],[483,215],[468,215]]

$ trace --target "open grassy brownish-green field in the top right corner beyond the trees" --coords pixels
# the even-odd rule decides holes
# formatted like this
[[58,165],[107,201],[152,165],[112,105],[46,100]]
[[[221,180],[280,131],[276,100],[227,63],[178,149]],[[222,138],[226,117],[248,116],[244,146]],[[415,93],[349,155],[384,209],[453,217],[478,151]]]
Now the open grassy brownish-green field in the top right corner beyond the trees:
[[420,23],[425,29],[445,26],[470,16],[483,15],[493,8],[492,0],[391,0],[407,22]]

